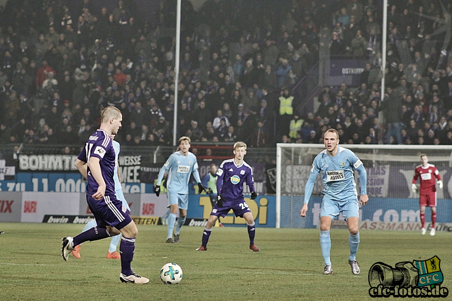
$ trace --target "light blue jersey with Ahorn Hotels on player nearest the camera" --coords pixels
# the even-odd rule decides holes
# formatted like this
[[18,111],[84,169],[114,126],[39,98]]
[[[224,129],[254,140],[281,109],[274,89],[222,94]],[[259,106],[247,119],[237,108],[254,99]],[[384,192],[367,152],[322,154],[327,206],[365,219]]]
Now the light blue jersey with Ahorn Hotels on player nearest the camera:
[[338,146],[337,154],[332,157],[328,155],[327,150],[323,150],[314,159],[309,174],[308,183],[305,188],[305,203],[311,198],[312,188],[314,187],[317,174],[322,173],[323,186],[322,190],[325,198],[336,201],[346,201],[357,198],[356,183],[353,178],[353,169],[359,173],[359,182],[361,186],[361,194],[367,194],[366,182],[367,174],[363,163],[353,153],[353,151]]

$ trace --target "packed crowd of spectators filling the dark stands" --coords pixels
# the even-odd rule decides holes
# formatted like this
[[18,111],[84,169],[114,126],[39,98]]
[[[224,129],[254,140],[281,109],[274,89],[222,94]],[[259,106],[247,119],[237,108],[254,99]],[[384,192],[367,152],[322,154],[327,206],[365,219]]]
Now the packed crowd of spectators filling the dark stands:
[[[140,18],[133,1],[8,1],[0,143],[80,145],[114,105],[122,145],[170,145],[177,104],[177,136],[193,142],[316,143],[335,127],[343,143],[452,144],[452,5],[390,2],[381,102],[371,72],[381,66],[379,0],[293,0],[278,9],[271,0],[207,0],[198,11],[183,0],[177,87],[175,1],[162,0],[155,20]],[[318,109],[301,116],[292,88],[318,60],[322,28],[331,55],[367,63],[358,87],[325,87]]]

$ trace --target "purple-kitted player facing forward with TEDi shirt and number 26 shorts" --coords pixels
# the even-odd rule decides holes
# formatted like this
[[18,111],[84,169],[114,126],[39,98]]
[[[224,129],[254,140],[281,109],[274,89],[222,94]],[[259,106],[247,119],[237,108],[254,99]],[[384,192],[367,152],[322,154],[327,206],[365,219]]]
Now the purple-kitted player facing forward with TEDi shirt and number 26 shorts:
[[225,217],[232,209],[235,216],[243,217],[248,225],[248,236],[250,237],[250,249],[259,252],[260,249],[254,244],[254,234],[256,227],[254,225],[253,214],[248,204],[243,198],[243,183],[250,188],[251,198],[257,198],[254,192],[253,170],[246,164],[243,157],[246,155],[246,144],[244,142],[235,142],[234,158],[224,160],[217,170],[217,203],[213,206],[204,231],[202,231],[202,245],[197,251],[207,250],[207,242],[212,233],[213,225],[218,217]]

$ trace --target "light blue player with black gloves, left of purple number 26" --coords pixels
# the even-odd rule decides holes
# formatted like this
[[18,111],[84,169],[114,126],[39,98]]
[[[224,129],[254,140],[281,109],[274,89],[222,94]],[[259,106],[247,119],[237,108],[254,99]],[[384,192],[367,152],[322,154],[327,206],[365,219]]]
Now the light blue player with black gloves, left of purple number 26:
[[[188,182],[190,175],[198,183],[199,193],[204,190],[201,184],[201,177],[198,172],[198,161],[196,156],[189,152],[191,139],[187,136],[179,138],[179,149],[171,154],[159,172],[157,183],[154,187],[155,195],[160,195],[160,184],[162,183],[165,172],[168,171],[168,178],[166,179],[166,188],[168,190],[168,202],[170,203],[170,215],[168,216],[168,235],[166,237],[167,243],[179,242],[180,228],[184,225],[187,216],[188,208]],[[177,210],[179,209],[179,219],[177,221],[176,230],[173,230],[176,221]]]

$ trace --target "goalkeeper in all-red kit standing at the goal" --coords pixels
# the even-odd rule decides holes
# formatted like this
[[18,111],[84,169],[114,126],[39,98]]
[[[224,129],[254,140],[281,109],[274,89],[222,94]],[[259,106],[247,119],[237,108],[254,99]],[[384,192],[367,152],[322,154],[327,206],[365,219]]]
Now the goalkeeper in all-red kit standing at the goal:
[[436,187],[435,178],[438,179],[438,186],[443,189],[443,181],[439,175],[438,169],[435,165],[428,164],[428,157],[425,154],[421,154],[421,165],[416,166],[414,169],[413,183],[411,184],[411,191],[416,193],[418,187],[416,181],[420,178],[419,185],[419,211],[422,224],[421,234],[425,235],[425,207],[429,206],[432,213],[432,230],[430,235],[435,235],[435,222],[436,222]]

